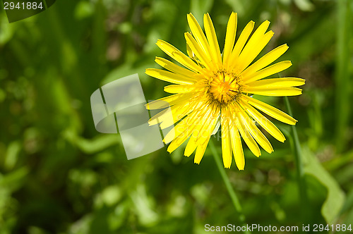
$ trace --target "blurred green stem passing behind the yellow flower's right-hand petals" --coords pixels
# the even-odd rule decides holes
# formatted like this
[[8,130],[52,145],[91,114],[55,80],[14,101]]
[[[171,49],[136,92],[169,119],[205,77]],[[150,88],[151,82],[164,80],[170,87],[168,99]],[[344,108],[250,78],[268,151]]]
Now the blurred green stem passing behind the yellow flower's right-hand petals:
[[[285,104],[287,106],[289,116],[293,116],[288,97],[285,97]],[[304,178],[304,165],[303,165],[302,154],[301,154],[301,145],[299,142],[297,128],[295,127],[295,125],[291,125],[291,128],[292,128],[292,137],[294,140],[294,147],[295,147],[294,159],[295,159],[297,180],[298,180],[298,186],[299,186],[299,197],[301,200],[302,207],[305,207],[305,209],[307,209],[306,205],[308,203],[307,203],[307,195],[306,195],[306,181]]]

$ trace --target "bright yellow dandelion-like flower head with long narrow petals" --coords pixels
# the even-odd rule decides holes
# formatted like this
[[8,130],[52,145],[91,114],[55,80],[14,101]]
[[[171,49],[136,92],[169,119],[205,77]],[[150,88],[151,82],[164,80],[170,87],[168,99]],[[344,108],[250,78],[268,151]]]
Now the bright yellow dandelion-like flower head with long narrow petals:
[[255,156],[261,155],[258,144],[266,152],[273,152],[273,147],[256,123],[275,139],[285,141],[280,130],[259,111],[283,123],[294,125],[297,122],[287,113],[254,99],[251,94],[276,97],[299,95],[301,89],[294,86],[304,85],[305,81],[300,78],[268,78],[292,66],[290,61],[269,66],[287,51],[287,44],[252,63],[273,37],[273,31],[266,32],[270,25],[268,20],[258,26],[252,35],[255,23],[250,21],[236,42],[237,13],[233,12],[227,24],[225,48],[221,54],[208,13],[203,17],[205,34],[191,13],[187,18],[191,29],[191,32],[185,33],[189,56],[160,39],[156,43],[185,68],[156,57],[155,61],[167,70],[151,68],[145,71],[154,78],[175,84],[164,87],[165,92],[172,93],[171,96],[146,105],[148,109],[170,106],[153,116],[149,123],[159,123],[162,129],[176,124],[164,137],[166,144],[170,142],[167,151],[173,152],[189,139],[184,155],[190,156],[196,150],[196,164],[200,164],[211,135],[220,127],[225,168],[230,168],[234,155],[237,167],[244,170],[241,137]]

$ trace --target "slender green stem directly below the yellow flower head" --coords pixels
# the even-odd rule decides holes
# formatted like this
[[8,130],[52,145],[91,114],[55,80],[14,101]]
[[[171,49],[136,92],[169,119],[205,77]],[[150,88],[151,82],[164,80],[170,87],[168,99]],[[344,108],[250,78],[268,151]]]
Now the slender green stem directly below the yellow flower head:
[[[212,151],[213,158],[215,158],[218,171],[220,171],[223,182],[225,183],[225,187],[227,188],[229,196],[232,199],[232,203],[234,205],[234,208],[239,215],[239,221],[241,221],[241,224],[243,226],[246,226],[247,224],[245,221],[245,216],[243,214],[243,210],[241,209],[241,204],[239,202],[237,195],[235,194],[235,192],[233,190],[232,184],[229,181],[227,173],[225,173],[225,167],[222,165],[222,161],[220,160],[220,155],[218,154],[217,149],[215,147],[215,144],[213,143],[213,139],[210,140],[210,149]],[[244,231],[244,233],[250,233],[250,232]]]

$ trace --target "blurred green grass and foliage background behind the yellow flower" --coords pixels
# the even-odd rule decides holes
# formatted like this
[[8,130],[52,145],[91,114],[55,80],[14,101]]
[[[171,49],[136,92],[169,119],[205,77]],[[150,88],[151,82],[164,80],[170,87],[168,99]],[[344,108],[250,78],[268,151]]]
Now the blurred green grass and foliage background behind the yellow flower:
[[[246,222],[353,226],[352,1],[62,0],[11,24],[0,12],[0,233],[205,233],[206,223],[239,224],[210,149],[199,166],[182,147],[128,161],[119,134],[97,133],[90,110],[92,92],[133,73],[146,99],[166,95],[166,82],[144,74],[157,68],[155,56],[167,58],[157,39],[186,52],[186,14],[201,22],[208,12],[222,49],[232,11],[238,36],[249,20],[270,20],[275,36],[263,54],[287,43],[281,59],[293,66],[281,75],[306,79],[303,94],[289,97],[299,142],[274,121],[285,143],[269,136],[275,152],[259,159],[244,147],[245,171],[234,161],[226,171]],[[282,97],[259,98],[288,112]]]

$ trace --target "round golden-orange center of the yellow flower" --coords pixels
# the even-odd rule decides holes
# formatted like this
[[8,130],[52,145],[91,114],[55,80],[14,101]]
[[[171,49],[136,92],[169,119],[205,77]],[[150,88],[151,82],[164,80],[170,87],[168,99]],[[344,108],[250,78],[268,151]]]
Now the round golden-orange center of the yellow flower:
[[210,81],[209,93],[215,101],[226,104],[237,97],[239,88],[236,76],[220,71]]

